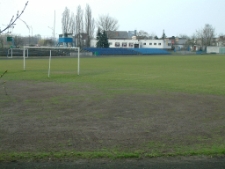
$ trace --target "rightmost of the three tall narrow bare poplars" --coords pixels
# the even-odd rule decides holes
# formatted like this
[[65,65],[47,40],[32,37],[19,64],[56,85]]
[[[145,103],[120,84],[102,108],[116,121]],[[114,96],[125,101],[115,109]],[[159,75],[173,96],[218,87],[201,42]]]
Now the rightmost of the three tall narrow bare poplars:
[[86,46],[90,47],[91,38],[93,38],[95,30],[95,20],[92,18],[91,7],[87,4],[85,9],[85,33],[87,34]]

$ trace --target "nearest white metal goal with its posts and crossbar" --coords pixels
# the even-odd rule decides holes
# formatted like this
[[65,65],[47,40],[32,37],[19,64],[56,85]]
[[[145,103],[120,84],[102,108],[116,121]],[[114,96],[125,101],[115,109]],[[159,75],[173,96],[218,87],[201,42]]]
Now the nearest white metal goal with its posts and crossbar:
[[[36,51],[48,51],[49,55],[49,68],[48,68],[48,77],[50,76],[50,65],[52,59],[52,51],[73,51],[77,52],[77,75],[80,75],[80,48],[79,47],[31,47],[31,46],[24,46],[23,47],[23,70],[26,70],[26,58],[29,57],[29,49],[33,49]],[[71,54],[71,53],[70,53]]]

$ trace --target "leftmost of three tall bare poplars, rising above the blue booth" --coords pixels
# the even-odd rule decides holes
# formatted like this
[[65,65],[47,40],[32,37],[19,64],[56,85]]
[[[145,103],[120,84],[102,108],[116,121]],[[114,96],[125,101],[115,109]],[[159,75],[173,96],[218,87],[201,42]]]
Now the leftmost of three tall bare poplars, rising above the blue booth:
[[62,32],[64,36],[67,34],[73,34],[75,28],[75,16],[70,13],[70,10],[66,7],[62,14]]

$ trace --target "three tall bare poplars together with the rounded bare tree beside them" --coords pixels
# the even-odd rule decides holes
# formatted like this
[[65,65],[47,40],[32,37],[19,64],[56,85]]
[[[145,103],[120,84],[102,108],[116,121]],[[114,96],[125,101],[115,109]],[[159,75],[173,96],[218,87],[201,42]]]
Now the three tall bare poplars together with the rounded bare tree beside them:
[[[118,29],[118,20],[109,15],[101,15],[98,20],[95,21],[89,4],[86,4],[84,11],[79,5],[76,15],[70,12],[67,7],[65,8],[62,14],[62,33],[65,37],[69,34],[74,35],[76,46],[90,47],[91,39],[94,37],[95,27],[98,28],[97,34],[100,32],[103,34],[104,31],[116,31]],[[101,38],[102,36],[98,37]]]

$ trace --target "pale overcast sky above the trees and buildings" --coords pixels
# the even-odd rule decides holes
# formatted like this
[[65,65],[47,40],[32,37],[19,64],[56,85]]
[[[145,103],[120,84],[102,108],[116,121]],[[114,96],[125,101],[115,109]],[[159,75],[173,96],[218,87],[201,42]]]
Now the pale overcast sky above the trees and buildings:
[[[27,0],[0,0],[0,28],[7,25]],[[30,27],[30,35],[51,37],[56,11],[56,34],[62,33],[62,13],[65,7],[76,13],[77,6],[89,4],[93,17],[109,14],[119,23],[119,31],[144,30],[161,37],[193,35],[205,24],[211,24],[216,34],[225,34],[225,0],[29,0],[21,19]],[[18,20],[14,34],[28,36],[29,29]]]

